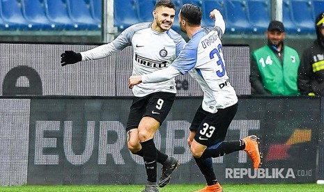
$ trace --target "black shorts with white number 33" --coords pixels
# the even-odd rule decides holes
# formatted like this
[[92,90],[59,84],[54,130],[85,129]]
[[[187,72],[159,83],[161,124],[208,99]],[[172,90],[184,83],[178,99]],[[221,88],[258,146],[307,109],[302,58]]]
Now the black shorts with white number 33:
[[194,140],[207,147],[224,141],[236,111],[238,103],[225,109],[218,109],[217,113],[209,113],[199,106],[190,126],[190,130],[196,131]]

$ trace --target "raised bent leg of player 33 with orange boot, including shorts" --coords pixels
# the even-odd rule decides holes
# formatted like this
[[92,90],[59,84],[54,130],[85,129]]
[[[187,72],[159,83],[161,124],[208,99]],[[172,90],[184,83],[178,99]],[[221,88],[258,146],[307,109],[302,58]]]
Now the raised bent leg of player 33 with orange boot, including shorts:
[[[256,136],[248,136],[247,138],[237,141],[224,141],[227,129],[236,115],[237,108],[238,104],[235,104],[226,109],[219,109],[217,113],[210,114],[206,117],[204,120],[206,126],[202,127],[201,131],[196,134],[192,142],[194,157],[221,157],[224,156],[224,154],[245,150],[248,152],[249,157],[252,158],[254,168],[259,168],[261,162],[259,143],[257,142],[259,138]],[[208,130],[213,131],[213,133],[209,132],[210,134],[208,134]],[[208,136],[210,137],[208,138]],[[203,150],[204,148],[205,150]],[[203,150],[203,152],[201,150]]]

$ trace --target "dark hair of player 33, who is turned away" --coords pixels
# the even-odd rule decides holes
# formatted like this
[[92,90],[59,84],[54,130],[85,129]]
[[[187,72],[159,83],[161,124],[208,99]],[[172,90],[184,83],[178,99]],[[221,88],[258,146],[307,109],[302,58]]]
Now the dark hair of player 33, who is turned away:
[[196,6],[194,4],[184,4],[180,10],[180,15],[188,23],[194,26],[201,24],[202,13],[199,6]]

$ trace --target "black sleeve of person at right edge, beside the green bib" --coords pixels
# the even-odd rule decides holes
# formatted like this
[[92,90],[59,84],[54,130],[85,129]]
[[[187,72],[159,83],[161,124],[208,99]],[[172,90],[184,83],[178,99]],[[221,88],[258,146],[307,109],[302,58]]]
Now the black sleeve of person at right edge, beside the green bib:
[[309,49],[305,49],[302,58],[300,60],[300,66],[298,68],[297,86],[302,95],[308,95],[311,90],[311,54]]

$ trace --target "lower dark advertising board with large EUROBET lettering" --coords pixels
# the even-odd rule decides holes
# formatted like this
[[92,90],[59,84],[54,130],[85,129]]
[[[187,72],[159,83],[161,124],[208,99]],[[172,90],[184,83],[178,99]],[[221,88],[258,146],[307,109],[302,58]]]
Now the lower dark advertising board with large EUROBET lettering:
[[[131,102],[127,97],[1,97],[0,184],[144,184],[143,160],[125,141]],[[240,96],[226,140],[260,136],[263,165],[255,171],[245,152],[218,157],[213,163],[219,182],[315,182],[323,102]],[[155,136],[158,149],[180,159],[174,184],[205,183],[187,147],[188,127],[200,104],[201,97],[178,97]]]

